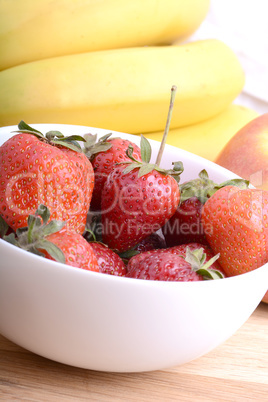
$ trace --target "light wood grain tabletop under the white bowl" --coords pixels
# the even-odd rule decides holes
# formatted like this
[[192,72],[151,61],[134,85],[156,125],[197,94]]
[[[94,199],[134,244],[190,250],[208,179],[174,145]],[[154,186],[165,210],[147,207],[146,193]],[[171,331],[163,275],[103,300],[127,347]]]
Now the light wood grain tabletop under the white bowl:
[[167,370],[103,373],[37,356],[0,336],[2,401],[268,401],[268,305],[228,341]]

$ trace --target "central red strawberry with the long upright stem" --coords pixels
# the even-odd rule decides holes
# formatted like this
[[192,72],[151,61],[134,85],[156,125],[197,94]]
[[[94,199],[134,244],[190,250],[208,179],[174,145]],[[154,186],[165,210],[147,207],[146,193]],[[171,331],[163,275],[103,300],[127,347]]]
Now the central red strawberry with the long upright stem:
[[150,164],[151,148],[143,136],[143,162],[135,160],[130,151],[128,155],[130,161],[109,174],[101,201],[103,242],[118,252],[133,248],[161,228],[180,199],[178,184],[171,176],[181,174],[180,163],[170,171]]

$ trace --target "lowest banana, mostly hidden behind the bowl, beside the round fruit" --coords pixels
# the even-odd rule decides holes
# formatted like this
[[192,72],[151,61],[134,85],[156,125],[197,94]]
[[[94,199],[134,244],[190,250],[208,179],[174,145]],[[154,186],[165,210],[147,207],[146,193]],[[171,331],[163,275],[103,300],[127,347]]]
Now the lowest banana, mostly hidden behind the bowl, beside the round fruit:
[[[257,116],[258,113],[253,109],[231,104],[219,115],[202,123],[170,130],[167,144],[214,161],[235,133]],[[145,136],[161,141],[163,132]]]

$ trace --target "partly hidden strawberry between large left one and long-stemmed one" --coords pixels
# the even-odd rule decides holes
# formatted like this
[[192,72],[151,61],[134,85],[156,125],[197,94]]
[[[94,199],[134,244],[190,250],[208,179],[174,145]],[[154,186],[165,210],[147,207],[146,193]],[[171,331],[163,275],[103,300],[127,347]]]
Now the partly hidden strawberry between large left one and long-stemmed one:
[[140,148],[136,144],[122,138],[109,138],[110,136],[111,134],[107,134],[96,143],[96,135],[85,135],[84,151],[93,166],[95,175],[91,211],[100,211],[101,195],[107,176],[118,163],[128,160],[126,150],[129,146],[133,149],[134,158],[141,160]]

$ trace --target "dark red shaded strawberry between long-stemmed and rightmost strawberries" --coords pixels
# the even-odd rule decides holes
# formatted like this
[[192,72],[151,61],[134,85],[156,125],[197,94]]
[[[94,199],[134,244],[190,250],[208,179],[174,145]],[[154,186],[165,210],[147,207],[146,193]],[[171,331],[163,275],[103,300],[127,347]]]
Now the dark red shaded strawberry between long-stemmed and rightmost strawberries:
[[181,184],[180,205],[162,229],[167,246],[192,242],[208,244],[201,222],[203,205],[217,190],[230,184],[246,188],[249,183],[243,179],[233,179],[217,184],[209,179],[207,171],[203,169],[198,178]]

